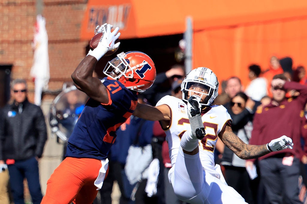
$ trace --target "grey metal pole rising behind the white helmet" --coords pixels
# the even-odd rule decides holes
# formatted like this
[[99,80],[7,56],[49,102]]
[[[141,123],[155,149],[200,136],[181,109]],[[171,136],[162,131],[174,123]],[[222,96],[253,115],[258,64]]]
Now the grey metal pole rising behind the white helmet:
[[192,18],[186,18],[186,31],[184,33],[185,39],[185,72],[188,73],[192,70],[192,42],[193,42],[193,28]]

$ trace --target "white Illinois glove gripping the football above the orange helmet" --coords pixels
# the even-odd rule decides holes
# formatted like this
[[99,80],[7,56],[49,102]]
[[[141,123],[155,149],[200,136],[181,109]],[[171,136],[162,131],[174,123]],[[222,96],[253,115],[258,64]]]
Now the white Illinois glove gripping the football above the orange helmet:
[[119,47],[120,42],[114,44],[115,40],[117,40],[120,36],[120,32],[118,32],[119,28],[116,27],[113,32],[111,32],[111,28],[113,28],[113,26],[106,23],[95,28],[95,35],[101,32],[103,35],[101,36],[97,47],[94,50],[90,50],[87,55],[91,55],[99,60],[104,54],[107,53],[107,51],[114,50],[115,48]]

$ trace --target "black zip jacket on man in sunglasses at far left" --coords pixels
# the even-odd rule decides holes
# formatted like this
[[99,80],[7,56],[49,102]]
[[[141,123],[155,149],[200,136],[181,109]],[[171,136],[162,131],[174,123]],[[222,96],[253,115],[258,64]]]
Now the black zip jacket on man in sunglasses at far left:
[[0,160],[41,158],[47,140],[41,108],[26,99],[6,105],[0,114]]

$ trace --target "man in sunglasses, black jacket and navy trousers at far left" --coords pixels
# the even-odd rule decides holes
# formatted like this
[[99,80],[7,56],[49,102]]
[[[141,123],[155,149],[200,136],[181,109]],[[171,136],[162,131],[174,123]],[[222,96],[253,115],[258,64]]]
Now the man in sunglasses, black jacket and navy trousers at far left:
[[27,84],[23,79],[11,83],[12,104],[0,115],[0,164],[6,163],[15,204],[24,204],[24,178],[28,181],[33,204],[41,203],[38,159],[47,140],[44,114],[39,106],[27,99]]

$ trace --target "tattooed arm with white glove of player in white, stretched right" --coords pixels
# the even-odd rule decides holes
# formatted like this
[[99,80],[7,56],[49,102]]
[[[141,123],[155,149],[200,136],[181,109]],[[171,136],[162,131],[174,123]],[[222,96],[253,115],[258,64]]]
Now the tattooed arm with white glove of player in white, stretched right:
[[279,151],[286,148],[292,149],[293,146],[292,139],[285,135],[264,145],[246,144],[232,132],[229,125],[226,126],[225,130],[220,132],[219,137],[241,159],[258,158],[272,151]]

